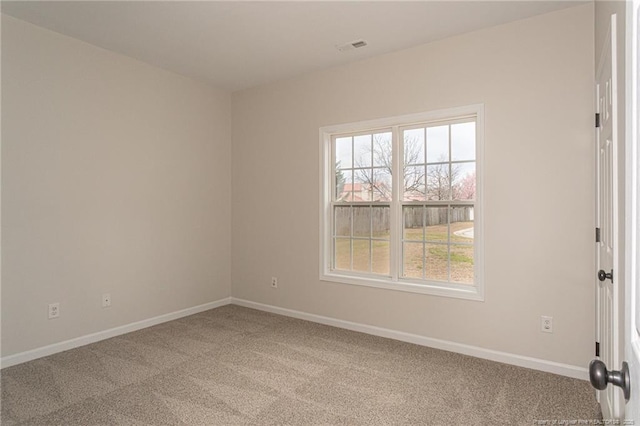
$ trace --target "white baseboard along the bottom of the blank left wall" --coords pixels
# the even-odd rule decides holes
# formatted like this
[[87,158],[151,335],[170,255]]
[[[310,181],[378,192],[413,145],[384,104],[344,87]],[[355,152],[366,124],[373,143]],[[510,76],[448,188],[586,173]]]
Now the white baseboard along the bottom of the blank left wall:
[[111,337],[120,336],[122,334],[131,333],[132,331],[162,324],[163,322],[173,321],[178,318],[187,317],[189,315],[197,314],[203,311],[208,311],[209,309],[218,308],[230,303],[231,297],[227,297],[224,299],[216,300],[214,302],[193,306],[191,308],[181,309],[179,311],[158,315],[157,317],[133,322],[131,324],[126,324],[119,327],[110,328],[108,330],[99,331],[97,333],[87,334],[85,336],[65,340],[64,342],[54,343],[52,345],[43,346],[26,352],[9,355],[0,359],[0,369],[53,355],[58,352],[68,351],[69,349],[74,349],[80,346],[88,345],[90,343],[99,342],[100,340],[105,340]]

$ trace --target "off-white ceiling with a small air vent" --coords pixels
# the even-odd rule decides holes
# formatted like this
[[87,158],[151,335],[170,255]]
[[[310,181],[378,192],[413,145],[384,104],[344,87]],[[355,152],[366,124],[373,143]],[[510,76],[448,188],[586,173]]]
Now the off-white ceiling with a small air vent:
[[[237,91],[583,1],[2,1],[2,13]],[[340,52],[336,45],[365,40]]]

